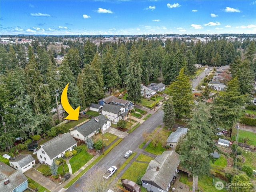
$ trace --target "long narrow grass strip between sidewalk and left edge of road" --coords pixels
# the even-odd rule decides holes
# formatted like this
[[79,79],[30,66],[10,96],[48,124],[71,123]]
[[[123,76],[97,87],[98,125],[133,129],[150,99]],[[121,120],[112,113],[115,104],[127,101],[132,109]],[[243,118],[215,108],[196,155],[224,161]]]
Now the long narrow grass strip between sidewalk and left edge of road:
[[92,166],[94,166],[99,160],[101,160],[108,152],[110,152],[115,146],[117,146],[123,139],[119,138],[112,146],[110,146],[105,152],[104,155],[101,154],[96,160],[90,163],[84,170],[82,170],[77,176],[75,176],[68,184],[64,186],[65,189],[69,188],[76,180],[78,180],[83,174],[85,174]]

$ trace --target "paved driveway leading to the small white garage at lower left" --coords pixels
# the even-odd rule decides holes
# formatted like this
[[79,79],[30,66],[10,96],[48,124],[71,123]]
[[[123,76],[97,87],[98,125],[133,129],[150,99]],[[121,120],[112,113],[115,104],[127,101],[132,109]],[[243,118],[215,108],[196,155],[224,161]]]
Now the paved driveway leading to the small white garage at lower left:
[[38,170],[31,168],[24,172],[24,175],[28,176],[35,182],[39,183],[40,185],[44,186],[49,191],[54,191],[54,189],[58,188],[60,184],[56,184],[54,181],[50,180],[49,178],[43,176]]

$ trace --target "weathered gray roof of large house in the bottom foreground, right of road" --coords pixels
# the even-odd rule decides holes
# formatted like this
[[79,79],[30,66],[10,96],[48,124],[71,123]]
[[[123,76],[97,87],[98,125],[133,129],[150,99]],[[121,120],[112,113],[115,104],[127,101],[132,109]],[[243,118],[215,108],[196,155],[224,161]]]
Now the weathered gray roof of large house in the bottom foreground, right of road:
[[[152,181],[154,186],[166,190],[175,171],[180,164],[179,154],[175,151],[164,151],[162,155],[158,155],[151,160],[146,169],[146,173],[141,178],[142,181]],[[156,168],[159,167],[157,171]]]

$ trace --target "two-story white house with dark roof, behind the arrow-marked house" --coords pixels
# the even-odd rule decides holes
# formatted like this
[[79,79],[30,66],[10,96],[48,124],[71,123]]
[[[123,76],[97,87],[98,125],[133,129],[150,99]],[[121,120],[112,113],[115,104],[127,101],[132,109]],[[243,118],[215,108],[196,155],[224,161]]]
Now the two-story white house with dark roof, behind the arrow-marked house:
[[100,114],[106,116],[112,122],[118,122],[119,120],[125,120],[128,112],[120,105],[106,103],[102,107]]

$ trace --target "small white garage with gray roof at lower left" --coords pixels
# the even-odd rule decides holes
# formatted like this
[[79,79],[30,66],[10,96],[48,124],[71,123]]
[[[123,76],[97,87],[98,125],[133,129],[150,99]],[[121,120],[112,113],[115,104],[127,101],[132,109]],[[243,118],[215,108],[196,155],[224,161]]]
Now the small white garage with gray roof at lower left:
[[15,159],[10,160],[10,166],[16,170],[20,170],[22,173],[32,168],[36,162],[32,155],[20,154]]

